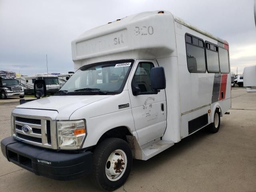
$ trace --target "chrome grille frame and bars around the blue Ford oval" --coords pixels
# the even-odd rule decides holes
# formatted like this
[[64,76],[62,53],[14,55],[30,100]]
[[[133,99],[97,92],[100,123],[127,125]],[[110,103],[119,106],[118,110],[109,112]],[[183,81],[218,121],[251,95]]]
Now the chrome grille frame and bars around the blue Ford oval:
[[[27,115],[27,114],[17,114],[15,113],[15,110],[22,110],[22,112],[29,112],[29,114],[45,114],[45,113],[49,113],[49,111],[45,111],[45,110],[32,110],[32,109],[14,109],[14,112],[12,113],[12,118],[14,119],[14,122],[12,124],[12,130],[14,130],[14,133],[13,133],[13,137],[16,138],[17,140],[20,140],[22,142],[25,142],[25,143],[28,143],[28,144],[32,144],[32,145],[35,145],[35,146],[41,146],[41,147],[44,147],[44,148],[51,148],[51,149],[57,149],[57,137],[56,137],[56,121],[55,119],[53,119],[52,117],[47,117],[47,116],[34,116],[34,115]],[[58,112],[56,113],[56,111],[52,111],[52,113],[49,113],[49,114],[58,114]],[[51,116],[51,115],[50,115]],[[40,120],[41,124],[32,124],[32,123],[26,123],[26,122],[21,122],[21,120],[19,119],[19,121],[16,121],[16,117],[20,117],[20,118],[27,118],[27,119],[37,119],[37,120]],[[55,116],[56,118],[56,116]],[[46,129],[46,122],[47,121],[50,121],[50,138],[51,138],[51,143],[48,143],[48,139],[47,139],[47,129]],[[32,128],[36,128],[36,129],[40,129],[41,130],[41,134],[38,134],[38,133],[29,133],[29,134],[26,134],[24,133],[22,130],[20,130],[20,128],[18,129],[16,127],[16,125],[19,125],[19,126],[23,126],[23,125],[28,125]],[[16,134],[17,133],[17,134]],[[48,132],[49,133],[49,132]],[[20,135],[20,137],[19,137]],[[26,137],[27,136],[27,137]],[[28,137],[29,136],[29,137]],[[23,137],[23,138],[21,138]],[[33,137],[35,138],[38,138],[38,139],[41,139],[42,140],[42,143],[40,142],[36,142],[35,140],[33,140],[31,138],[30,140],[30,137]],[[48,136],[49,137],[49,136]]]

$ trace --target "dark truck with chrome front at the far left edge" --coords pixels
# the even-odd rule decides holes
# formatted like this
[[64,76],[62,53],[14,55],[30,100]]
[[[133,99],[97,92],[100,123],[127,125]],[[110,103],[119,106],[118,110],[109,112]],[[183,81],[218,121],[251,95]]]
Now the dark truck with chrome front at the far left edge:
[[24,90],[16,79],[7,79],[0,77],[0,98],[19,96],[24,98]]

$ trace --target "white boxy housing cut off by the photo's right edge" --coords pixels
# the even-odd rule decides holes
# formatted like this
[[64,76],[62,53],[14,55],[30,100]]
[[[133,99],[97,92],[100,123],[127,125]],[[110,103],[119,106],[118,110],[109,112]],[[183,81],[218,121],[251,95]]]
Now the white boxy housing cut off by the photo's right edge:
[[244,68],[244,87],[247,92],[256,92],[256,66]]

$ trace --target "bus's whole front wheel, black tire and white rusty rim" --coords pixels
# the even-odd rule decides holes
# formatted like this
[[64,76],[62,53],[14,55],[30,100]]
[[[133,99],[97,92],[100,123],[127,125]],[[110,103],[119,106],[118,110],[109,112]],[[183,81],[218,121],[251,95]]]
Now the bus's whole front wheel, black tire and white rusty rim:
[[132,151],[122,139],[108,138],[93,152],[92,181],[101,190],[113,191],[122,186],[131,168]]

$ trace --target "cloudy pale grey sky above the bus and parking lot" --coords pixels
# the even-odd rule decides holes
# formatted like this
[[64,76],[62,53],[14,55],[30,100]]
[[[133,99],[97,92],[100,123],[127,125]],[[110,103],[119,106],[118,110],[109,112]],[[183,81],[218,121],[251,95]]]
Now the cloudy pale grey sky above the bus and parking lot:
[[254,0],[0,0],[0,70],[74,71],[71,41],[138,12],[168,10],[230,47],[231,72],[256,65]]

